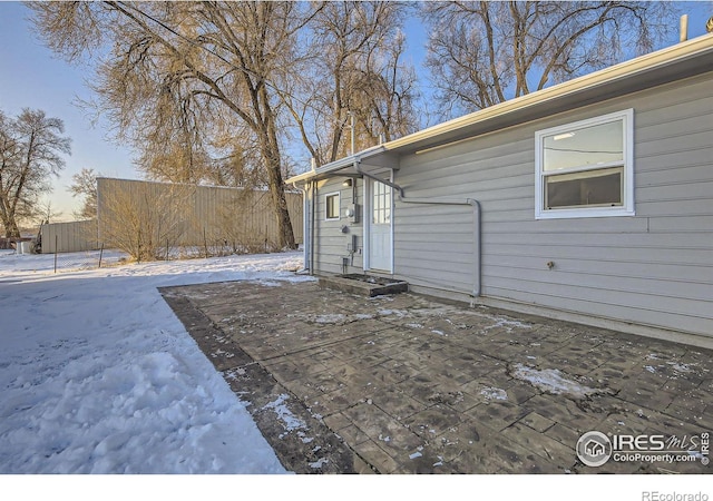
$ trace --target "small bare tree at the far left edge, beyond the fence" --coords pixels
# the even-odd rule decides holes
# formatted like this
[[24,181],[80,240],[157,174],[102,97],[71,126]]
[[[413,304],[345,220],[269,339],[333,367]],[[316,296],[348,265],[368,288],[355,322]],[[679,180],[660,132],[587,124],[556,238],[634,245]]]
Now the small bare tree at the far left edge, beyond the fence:
[[0,111],[0,222],[6,237],[19,237],[18,222],[37,215],[38,199],[70,153],[65,124],[41,110],[23,109],[12,119]]

